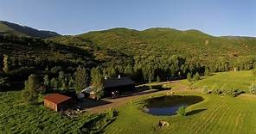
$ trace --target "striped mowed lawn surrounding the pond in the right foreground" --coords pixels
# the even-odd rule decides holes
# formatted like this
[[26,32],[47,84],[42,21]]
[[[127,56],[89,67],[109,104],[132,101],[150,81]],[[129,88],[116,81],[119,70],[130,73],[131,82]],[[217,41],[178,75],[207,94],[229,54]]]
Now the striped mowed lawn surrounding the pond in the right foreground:
[[[180,94],[200,95],[205,100],[188,107],[188,111],[194,111],[194,114],[187,117],[152,116],[138,108],[142,106],[141,101],[133,101],[118,108],[118,119],[106,127],[105,133],[256,133],[256,97],[234,98],[195,91]],[[196,111],[199,112],[195,113]],[[159,120],[168,121],[170,125],[159,128]]]

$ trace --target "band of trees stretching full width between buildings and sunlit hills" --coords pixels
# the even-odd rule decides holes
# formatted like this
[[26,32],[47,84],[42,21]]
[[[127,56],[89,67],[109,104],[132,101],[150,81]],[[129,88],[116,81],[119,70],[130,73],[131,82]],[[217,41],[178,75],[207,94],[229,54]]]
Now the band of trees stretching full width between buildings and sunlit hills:
[[[136,82],[160,82],[186,78],[188,74],[198,79],[210,72],[256,68],[256,56],[202,60],[165,53],[146,57],[113,52],[91,43],[89,46],[92,46],[90,51],[48,40],[0,35],[1,90],[14,85],[11,82],[24,82],[31,74],[37,74],[46,88],[81,90],[94,83],[95,76],[121,75],[131,76]],[[75,72],[79,73],[74,75]]]

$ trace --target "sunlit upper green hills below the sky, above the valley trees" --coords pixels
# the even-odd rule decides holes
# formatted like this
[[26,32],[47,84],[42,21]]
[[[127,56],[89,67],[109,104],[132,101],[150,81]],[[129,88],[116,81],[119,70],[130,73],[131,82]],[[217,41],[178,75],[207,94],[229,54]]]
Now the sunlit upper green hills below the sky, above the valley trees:
[[256,38],[214,37],[197,30],[150,28],[144,31],[113,28],[77,35],[99,47],[129,55],[184,55],[236,57],[256,54]]

